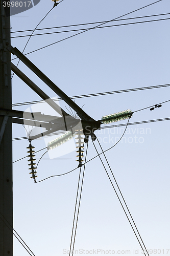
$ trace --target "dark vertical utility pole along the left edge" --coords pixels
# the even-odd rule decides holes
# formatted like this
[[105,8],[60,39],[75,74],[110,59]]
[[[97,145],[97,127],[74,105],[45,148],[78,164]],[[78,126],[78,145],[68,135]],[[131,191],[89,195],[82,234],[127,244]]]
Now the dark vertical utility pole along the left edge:
[[[0,4],[0,108],[12,109],[10,8]],[[12,117],[0,116],[0,255],[13,256]]]

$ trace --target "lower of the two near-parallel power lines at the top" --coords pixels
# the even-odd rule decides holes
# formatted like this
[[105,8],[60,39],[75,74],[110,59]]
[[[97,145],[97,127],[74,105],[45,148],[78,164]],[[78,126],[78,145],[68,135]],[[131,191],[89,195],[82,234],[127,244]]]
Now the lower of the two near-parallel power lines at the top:
[[[134,25],[134,24],[149,23],[149,22],[159,22],[159,21],[167,20],[167,19],[170,19],[170,18],[162,18],[162,19],[154,19],[154,20],[144,20],[142,22],[116,24],[116,25],[103,26],[103,27],[98,27],[98,28],[93,28],[93,29],[103,29],[103,28],[118,27],[118,26],[125,26],[125,25]],[[66,33],[66,32],[76,32],[76,31],[82,31],[82,30],[87,30],[87,29],[88,28],[65,30],[65,31],[56,31],[56,32],[48,32],[48,33],[35,34],[35,35],[32,35],[32,36],[59,34],[59,33]],[[30,36],[30,35],[12,36],[11,38],[20,38],[20,37],[28,37],[28,36]]]

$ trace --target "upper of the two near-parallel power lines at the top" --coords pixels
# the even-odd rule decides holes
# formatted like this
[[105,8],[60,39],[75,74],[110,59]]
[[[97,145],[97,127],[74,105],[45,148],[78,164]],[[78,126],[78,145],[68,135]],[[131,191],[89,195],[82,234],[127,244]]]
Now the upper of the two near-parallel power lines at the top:
[[[133,17],[133,18],[123,18],[123,19],[117,19],[113,20],[113,22],[119,22],[129,19],[139,19],[139,18],[149,18],[149,17],[156,17],[156,16],[162,16],[162,15],[169,15],[170,13],[162,13],[162,14],[155,14],[155,15],[148,15],[148,16],[139,16],[139,17]],[[76,26],[84,26],[84,25],[92,25],[92,24],[99,24],[99,23],[105,23],[109,22],[109,20],[105,20],[103,22],[91,22],[91,23],[82,23],[82,24],[75,24],[75,25],[66,25],[66,26],[59,26],[59,27],[50,27],[50,28],[42,28],[42,29],[35,29],[37,30],[46,30],[46,29],[58,29],[58,28],[67,28],[67,27],[76,27]],[[30,30],[21,30],[21,31],[11,31],[11,33],[21,33],[21,32],[30,32],[33,31],[33,29]]]

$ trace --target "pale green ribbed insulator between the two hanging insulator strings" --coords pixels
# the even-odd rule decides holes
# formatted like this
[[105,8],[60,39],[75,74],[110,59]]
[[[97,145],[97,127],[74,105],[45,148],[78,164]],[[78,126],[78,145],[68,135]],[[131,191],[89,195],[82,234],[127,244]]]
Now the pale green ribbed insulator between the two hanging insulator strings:
[[65,142],[67,142],[68,140],[70,140],[74,137],[75,137],[74,133],[67,132],[67,133],[61,135],[60,137],[58,137],[57,139],[48,142],[47,150],[53,150],[57,146],[64,144]]

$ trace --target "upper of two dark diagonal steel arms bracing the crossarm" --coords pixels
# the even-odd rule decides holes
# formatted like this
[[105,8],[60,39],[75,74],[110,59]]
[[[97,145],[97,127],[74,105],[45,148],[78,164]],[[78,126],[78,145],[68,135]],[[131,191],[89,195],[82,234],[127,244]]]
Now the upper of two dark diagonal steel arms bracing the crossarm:
[[25,55],[23,55],[17,48],[9,46],[7,48],[13,55],[16,55],[25,65],[31,69],[48,87],[50,87],[57,95],[59,95],[82,120],[95,121],[88,116],[73,100],[71,100],[61,89],[59,89],[54,82],[52,82],[46,75],[44,75]]

